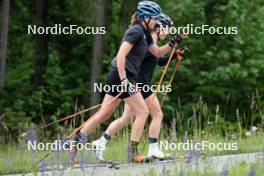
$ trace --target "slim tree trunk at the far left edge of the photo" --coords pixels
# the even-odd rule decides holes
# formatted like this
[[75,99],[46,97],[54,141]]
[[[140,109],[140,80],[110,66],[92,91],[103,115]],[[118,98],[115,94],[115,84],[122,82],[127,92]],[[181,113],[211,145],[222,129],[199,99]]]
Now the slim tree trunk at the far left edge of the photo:
[[[0,36],[0,96],[4,89],[6,48],[8,39],[9,0],[3,0],[2,4],[2,30]],[[2,112],[2,98],[0,98],[0,113]],[[1,114],[0,114],[1,115]]]

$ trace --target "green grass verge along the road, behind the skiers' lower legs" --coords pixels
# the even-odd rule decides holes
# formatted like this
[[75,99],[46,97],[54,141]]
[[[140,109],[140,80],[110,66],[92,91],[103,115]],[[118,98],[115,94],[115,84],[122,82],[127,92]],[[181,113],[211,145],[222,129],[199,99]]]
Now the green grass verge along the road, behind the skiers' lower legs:
[[[117,137],[114,137],[107,145],[107,149],[105,151],[105,159],[111,160],[119,160],[119,161],[126,161],[127,159],[127,145],[129,141],[129,130],[125,129],[120,133]],[[166,136],[162,134],[161,136]],[[212,143],[237,143],[238,150],[237,151],[204,151],[206,156],[212,155],[224,155],[224,154],[231,154],[231,153],[245,153],[245,152],[259,152],[264,148],[264,140],[263,134],[255,133],[250,137],[243,137],[243,138],[223,138],[220,136],[213,136],[213,135],[204,135],[200,136],[190,136],[190,140],[194,140],[196,142],[207,140]],[[161,140],[165,140],[164,137]],[[178,138],[177,142],[181,142],[183,139]],[[34,154],[27,150],[27,146],[25,142],[20,140],[19,145],[0,145],[0,174],[10,174],[10,173],[22,173],[22,172],[36,172],[38,168],[31,169],[32,165],[36,163],[41,157],[45,155],[45,153],[49,151],[37,151]],[[140,152],[143,154],[147,153],[148,150],[148,140],[147,135],[144,134],[142,137],[142,142],[139,145]],[[174,153],[176,156],[186,156],[188,151],[168,151],[170,153]],[[89,163],[95,163],[95,155],[92,151],[81,151],[78,154],[80,157],[83,157],[85,161],[89,161]],[[61,164],[66,165],[67,160],[69,159],[70,154],[69,152],[63,152],[60,156]],[[56,164],[56,152],[53,152],[48,158],[45,159],[47,165],[54,165]],[[243,165],[242,165],[243,166]],[[242,166],[237,166],[242,167]],[[258,168],[258,167],[257,167]],[[239,173],[239,169],[234,167],[232,173],[234,174]],[[195,172],[194,172],[195,173]],[[245,173],[245,172],[243,172]],[[197,175],[203,175],[203,173],[196,173]],[[208,173],[206,173],[208,174]],[[192,175],[192,173],[188,173],[188,175]],[[195,175],[195,174],[194,174]],[[210,173],[213,175],[213,172]]]

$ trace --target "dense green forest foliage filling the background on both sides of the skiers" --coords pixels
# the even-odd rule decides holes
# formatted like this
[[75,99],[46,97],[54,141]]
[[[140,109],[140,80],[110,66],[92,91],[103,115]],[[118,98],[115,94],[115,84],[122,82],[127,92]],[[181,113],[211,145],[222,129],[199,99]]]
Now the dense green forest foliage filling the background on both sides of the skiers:
[[[165,122],[171,121],[173,113],[180,112],[184,117],[191,117],[194,107],[199,109],[197,102],[201,97],[207,111],[206,116],[201,116],[203,123],[214,116],[212,113],[217,105],[219,116],[225,121],[236,122],[236,110],[239,109],[243,127],[263,122],[263,1],[157,2],[172,17],[175,26],[208,24],[238,27],[236,35],[190,35],[183,42],[182,45],[188,45],[191,53],[188,60],[182,62],[172,92],[165,100]],[[46,23],[49,26],[56,23],[93,26],[94,6],[95,3],[89,0],[50,1]],[[121,1],[113,1],[111,21],[104,35],[106,42],[100,78],[103,83],[123,35],[120,33],[120,11]],[[35,23],[35,2],[12,2],[7,73],[2,97],[8,132],[14,136],[19,128],[54,121],[72,114],[76,105],[86,106],[89,102],[93,36],[48,36],[49,57],[43,85],[34,87],[36,36],[27,35],[26,30],[28,24]],[[172,70],[169,69],[165,80],[169,79]],[[157,69],[153,83],[158,81],[161,71],[162,68]],[[183,119],[182,123],[187,124],[187,120]]]

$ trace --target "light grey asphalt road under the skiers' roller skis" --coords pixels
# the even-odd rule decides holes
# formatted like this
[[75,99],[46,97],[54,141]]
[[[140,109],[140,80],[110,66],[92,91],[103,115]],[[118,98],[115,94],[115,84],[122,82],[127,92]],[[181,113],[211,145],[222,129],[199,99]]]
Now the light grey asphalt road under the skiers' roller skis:
[[[39,172],[39,176],[53,176],[53,175],[66,175],[66,176],[142,176],[149,175],[150,173],[156,173],[157,175],[164,174],[167,170],[181,171],[186,169],[204,170],[212,169],[217,172],[222,172],[224,168],[229,168],[241,161],[251,163],[256,162],[258,159],[263,159],[263,153],[246,153],[236,155],[223,155],[207,157],[205,159],[192,159],[189,163],[180,161],[163,161],[155,164],[124,164],[120,165],[120,169],[110,169],[107,167],[95,167],[93,165],[87,165],[83,168],[67,168],[61,171],[45,171]],[[263,166],[264,167],[264,166]],[[16,174],[22,176],[22,174]],[[33,173],[27,173],[26,176],[33,176]]]

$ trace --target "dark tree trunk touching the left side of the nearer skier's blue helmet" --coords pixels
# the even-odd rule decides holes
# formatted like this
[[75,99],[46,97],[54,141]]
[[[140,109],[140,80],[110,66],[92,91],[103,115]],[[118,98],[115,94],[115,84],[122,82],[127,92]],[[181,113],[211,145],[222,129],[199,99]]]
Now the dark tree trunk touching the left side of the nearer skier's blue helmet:
[[121,33],[123,34],[126,29],[128,28],[131,16],[136,12],[137,10],[137,4],[139,0],[122,0],[121,1]]

